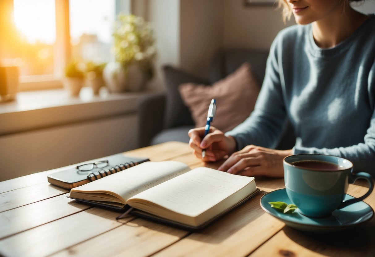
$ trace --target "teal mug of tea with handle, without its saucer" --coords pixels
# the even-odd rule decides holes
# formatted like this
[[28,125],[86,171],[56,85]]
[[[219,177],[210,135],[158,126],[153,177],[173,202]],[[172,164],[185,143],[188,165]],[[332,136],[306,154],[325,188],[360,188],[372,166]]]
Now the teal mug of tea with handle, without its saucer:
[[[349,184],[366,179],[369,190],[361,197],[345,200]],[[284,180],[288,197],[308,217],[328,217],[336,209],[362,201],[374,182],[369,173],[353,173],[353,163],[323,154],[296,154],[284,158]]]

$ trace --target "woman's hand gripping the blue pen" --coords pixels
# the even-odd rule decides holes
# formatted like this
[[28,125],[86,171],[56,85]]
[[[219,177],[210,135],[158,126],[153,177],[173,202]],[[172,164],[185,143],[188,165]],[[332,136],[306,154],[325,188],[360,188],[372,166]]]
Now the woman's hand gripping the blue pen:
[[189,146],[193,148],[193,154],[202,158],[202,149],[206,149],[203,161],[217,161],[232,154],[236,150],[236,140],[215,127],[210,127],[210,132],[204,136],[205,128],[200,127],[189,130]]

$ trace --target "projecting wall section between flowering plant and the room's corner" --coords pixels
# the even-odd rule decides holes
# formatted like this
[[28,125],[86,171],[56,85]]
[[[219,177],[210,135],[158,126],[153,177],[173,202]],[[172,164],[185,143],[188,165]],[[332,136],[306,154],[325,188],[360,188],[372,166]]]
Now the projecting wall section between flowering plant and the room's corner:
[[[149,0],[144,17],[157,42],[156,76],[150,88],[163,90],[162,67],[169,64],[206,76],[213,52],[222,46],[224,0]],[[140,9],[140,2],[133,2]],[[138,13],[141,14],[141,13]]]

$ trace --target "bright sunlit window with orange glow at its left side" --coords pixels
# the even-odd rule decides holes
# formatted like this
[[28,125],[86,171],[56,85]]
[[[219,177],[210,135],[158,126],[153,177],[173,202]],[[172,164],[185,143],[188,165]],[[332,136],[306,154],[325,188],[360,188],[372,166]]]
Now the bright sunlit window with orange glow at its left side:
[[0,65],[19,67],[21,90],[61,87],[68,61],[110,60],[115,15],[129,3],[1,0]]

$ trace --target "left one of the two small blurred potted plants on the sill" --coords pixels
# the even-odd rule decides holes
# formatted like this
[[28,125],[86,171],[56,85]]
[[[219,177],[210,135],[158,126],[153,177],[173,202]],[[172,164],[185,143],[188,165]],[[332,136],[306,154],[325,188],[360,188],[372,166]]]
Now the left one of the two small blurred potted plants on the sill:
[[71,61],[65,66],[64,87],[70,96],[78,96],[84,82],[84,63]]

